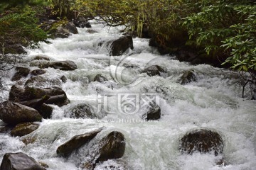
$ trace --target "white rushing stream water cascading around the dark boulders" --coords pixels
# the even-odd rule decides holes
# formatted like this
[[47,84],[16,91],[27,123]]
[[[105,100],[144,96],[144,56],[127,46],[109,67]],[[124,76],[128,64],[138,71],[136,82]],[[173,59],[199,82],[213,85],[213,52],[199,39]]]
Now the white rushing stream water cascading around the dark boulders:
[[[90,29],[97,33],[88,33]],[[129,169],[256,169],[256,105],[255,101],[241,98],[241,80],[232,79],[238,77],[238,73],[207,64],[192,66],[171,56],[161,56],[149,47],[148,39],[142,38],[133,39],[133,50],[110,57],[105,42],[121,36],[117,28],[103,27],[102,23],[93,21],[92,28],[78,28],[78,31],[79,34],[69,38],[41,43],[39,49],[27,49],[28,59],[46,55],[51,61],[72,60],[78,65],[75,71],[48,68],[42,75],[47,79],[59,79],[63,75],[68,78],[60,87],[68,95],[70,104],[53,106],[52,118],[44,119],[38,130],[26,136],[36,138],[32,144],[24,145],[19,137],[1,134],[1,159],[6,152],[25,152],[48,164],[50,170],[80,169],[80,165],[90,159],[85,148],[68,159],[57,157],[56,149],[74,135],[103,127],[96,138],[100,139],[112,130],[124,134],[127,145],[122,160],[127,162]],[[31,63],[31,66],[35,65],[35,62]],[[153,64],[166,69],[166,74],[149,77],[141,73]],[[179,84],[179,77],[191,69],[196,73],[197,81]],[[14,71],[9,72],[9,77],[13,74]],[[96,74],[104,75],[108,81],[92,81]],[[5,81],[10,88],[15,82],[9,79],[7,77]],[[161,118],[146,122],[142,119],[146,108],[136,106],[136,103],[134,109],[139,108],[138,111],[125,108],[122,97],[129,99],[131,95],[134,100],[157,99]],[[248,90],[246,95],[249,96]],[[67,111],[80,103],[90,105],[96,118],[70,118]],[[208,128],[221,135],[224,140],[222,156],[227,166],[215,164],[222,156],[179,152],[181,137],[196,128]],[[113,164],[117,162],[109,160],[95,169],[106,166],[111,169]]]

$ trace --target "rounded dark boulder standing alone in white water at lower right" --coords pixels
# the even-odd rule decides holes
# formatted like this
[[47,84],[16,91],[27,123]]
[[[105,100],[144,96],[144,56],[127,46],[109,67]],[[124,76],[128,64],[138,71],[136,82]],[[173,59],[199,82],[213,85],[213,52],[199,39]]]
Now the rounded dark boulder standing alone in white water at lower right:
[[214,152],[217,156],[223,152],[223,140],[218,132],[207,129],[193,130],[181,138],[179,149],[181,153],[186,154]]

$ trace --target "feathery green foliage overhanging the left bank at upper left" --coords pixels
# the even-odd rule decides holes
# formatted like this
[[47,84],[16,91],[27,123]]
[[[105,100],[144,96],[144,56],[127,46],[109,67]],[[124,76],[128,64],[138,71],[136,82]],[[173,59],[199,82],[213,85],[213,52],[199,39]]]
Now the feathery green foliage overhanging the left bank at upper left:
[[0,18],[0,42],[1,46],[20,44],[37,45],[47,38],[46,33],[38,28],[36,11],[26,6],[16,9]]

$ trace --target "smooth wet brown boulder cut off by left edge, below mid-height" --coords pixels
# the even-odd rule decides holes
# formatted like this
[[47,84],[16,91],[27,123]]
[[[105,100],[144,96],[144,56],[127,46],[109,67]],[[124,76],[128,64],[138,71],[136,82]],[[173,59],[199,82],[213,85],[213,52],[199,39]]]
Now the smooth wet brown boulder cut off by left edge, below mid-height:
[[9,125],[41,121],[42,116],[33,108],[19,103],[5,101],[0,103],[0,119]]

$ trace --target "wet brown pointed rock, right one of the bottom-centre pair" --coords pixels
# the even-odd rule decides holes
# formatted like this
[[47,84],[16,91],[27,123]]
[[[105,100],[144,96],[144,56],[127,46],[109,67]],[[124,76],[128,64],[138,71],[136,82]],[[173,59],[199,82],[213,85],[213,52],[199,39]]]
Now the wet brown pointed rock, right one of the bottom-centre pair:
[[124,155],[125,140],[121,132],[113,131],[100,140],[100,153],[97,162],[104,162],[108,159],[118,159]]

